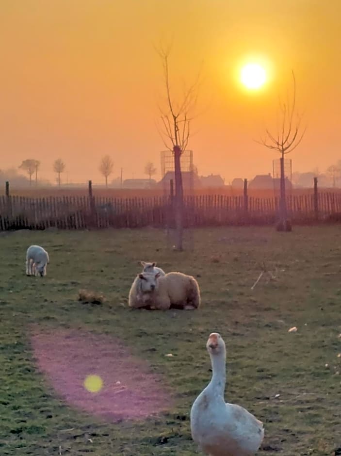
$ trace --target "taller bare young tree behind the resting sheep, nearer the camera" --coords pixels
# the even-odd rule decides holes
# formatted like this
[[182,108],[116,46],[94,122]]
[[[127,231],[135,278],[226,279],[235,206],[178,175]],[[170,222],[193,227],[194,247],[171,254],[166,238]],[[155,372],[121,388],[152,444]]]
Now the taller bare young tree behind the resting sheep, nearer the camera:
[[175,174],[175,222],[176,222],[176,248],[182,250],[183,239],[183,186],[181,175],[180,157],[188,145],[190,138],[191,112],[195,107],[198,95],[198,81],[184,88],[180,100],[175,100],[171,92],[169,77],[170,48],[157,50],[163,68],[164,88],[166,101],[160,109],[161,128],[159,132],[164,146],[173,152]]

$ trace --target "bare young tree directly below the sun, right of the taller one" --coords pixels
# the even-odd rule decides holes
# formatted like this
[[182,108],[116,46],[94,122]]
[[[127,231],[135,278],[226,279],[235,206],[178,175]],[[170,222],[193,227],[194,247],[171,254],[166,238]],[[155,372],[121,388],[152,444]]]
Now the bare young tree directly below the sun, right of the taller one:
[[287,220],[284,156],[292,152],[300,144],[306,132],[306,127],[303,130],[301,128],[302,115],[296,111],[296,80],[293,71],[292,83],[292,100],[289,99],[289,95],[287,96],[286,102],[282,102],[279,98],[281,119],[279,121],[279,116],[277,117],[276,133],[272,133],[269,129],[266,129],[264,138],[261,138],[260,141],[256,141],[262,146],[280,153],[280,223],[278,228],[286,231],[291,231],[291,226],[288,224]]

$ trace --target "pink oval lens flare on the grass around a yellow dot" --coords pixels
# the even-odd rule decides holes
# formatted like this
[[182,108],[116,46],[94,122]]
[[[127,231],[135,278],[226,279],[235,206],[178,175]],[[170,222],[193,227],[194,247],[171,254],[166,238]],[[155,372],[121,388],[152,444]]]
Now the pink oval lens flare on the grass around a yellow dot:
[[[106,421],[143,419],[167,410],[172,399],[161,375],[130,354],[120,340],[80,330],[35,331],[31,338],[39,370],[69,405]],[[84,388],[98,375],[98,392]]]

